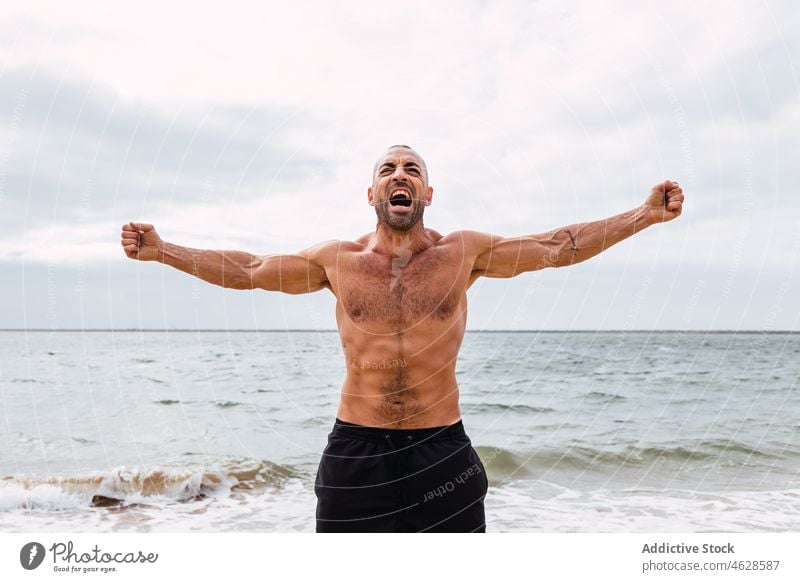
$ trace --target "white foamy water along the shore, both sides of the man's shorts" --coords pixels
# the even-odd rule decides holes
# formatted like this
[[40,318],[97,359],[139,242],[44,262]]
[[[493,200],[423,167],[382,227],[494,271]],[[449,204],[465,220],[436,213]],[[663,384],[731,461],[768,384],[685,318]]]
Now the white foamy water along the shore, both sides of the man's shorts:
[[[313,532],[315,506],[313,482],[298,478],[281,488],[121,509],[87,507],[52,486],[0,488],[6,531]],[[520,482],[489,489],[486,517],[489,532],[797,531],[800,490],[579,491]]]

